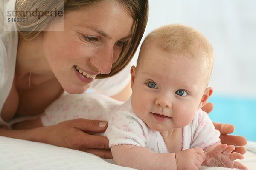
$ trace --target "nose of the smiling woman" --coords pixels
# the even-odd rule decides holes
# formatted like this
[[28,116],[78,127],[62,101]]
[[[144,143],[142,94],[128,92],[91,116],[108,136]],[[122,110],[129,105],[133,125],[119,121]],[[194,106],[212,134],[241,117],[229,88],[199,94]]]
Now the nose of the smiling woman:
[[90,59],[90,62],[95,66],[101,74],[108,74],[111,71],[113,63],[113,47],[105,47],[99,49]]

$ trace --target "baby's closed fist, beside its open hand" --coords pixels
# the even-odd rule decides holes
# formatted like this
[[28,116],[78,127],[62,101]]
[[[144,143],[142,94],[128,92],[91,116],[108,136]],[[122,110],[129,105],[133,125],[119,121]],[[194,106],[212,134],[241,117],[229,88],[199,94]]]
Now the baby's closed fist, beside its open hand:
[[178,170],[199,170],[204,161],[204,151],[195,147],[186,149],[176,154]]

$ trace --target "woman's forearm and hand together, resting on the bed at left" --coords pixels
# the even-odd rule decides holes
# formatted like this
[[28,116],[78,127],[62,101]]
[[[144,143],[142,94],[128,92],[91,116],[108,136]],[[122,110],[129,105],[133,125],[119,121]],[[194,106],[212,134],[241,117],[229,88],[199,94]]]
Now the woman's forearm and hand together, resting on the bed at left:
[[7,137],[81,150],[102,158],[112,159],[108,139],[104,136],[88,134],[104,132],[107,127],[108,122],[87,119],[67,120],[56,125],[43,127],[41,119],[38,117],[16,123],[12,125],[13,130],[6,128],[2,134]]

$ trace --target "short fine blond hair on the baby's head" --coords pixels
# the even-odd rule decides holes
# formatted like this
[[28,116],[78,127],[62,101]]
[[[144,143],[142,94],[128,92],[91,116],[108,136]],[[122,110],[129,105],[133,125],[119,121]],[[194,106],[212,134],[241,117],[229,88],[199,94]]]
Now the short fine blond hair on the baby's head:
[[208,84],[214,63],[214,49],[207,38],[195,28],[170,24],[152,31],[141,45],[137,68],[142,62],[143,52],[149,45],[155,45],[154,47],[162,51],[179,56],[198,57],[202,61],[201,66],[206,69]]

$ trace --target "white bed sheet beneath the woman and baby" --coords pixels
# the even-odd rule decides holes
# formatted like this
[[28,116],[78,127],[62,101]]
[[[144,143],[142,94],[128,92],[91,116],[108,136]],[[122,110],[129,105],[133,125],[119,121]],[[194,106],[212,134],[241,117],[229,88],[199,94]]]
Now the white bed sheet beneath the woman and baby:
[[[244,157],[241,162],[249,170],[256,170],[256,153],[248,151]],[[109,162],[113,161],[78,150],[0,136],[0,170],[134,170]],[[202,170],[227,169],[202,167]]]

